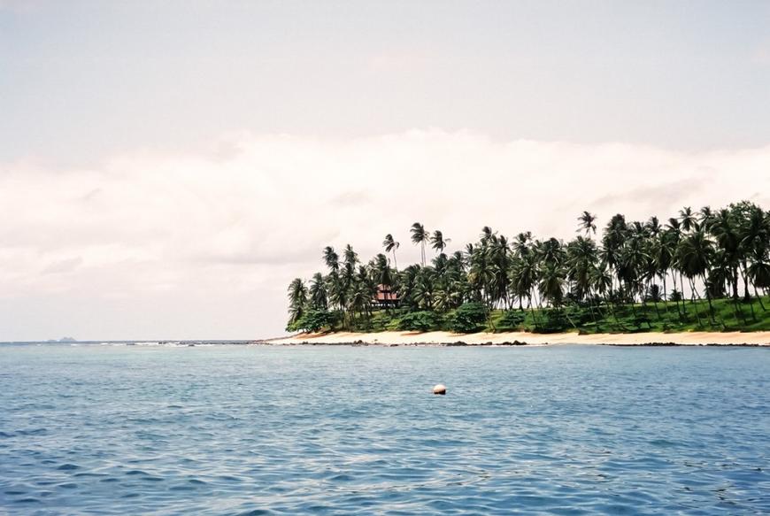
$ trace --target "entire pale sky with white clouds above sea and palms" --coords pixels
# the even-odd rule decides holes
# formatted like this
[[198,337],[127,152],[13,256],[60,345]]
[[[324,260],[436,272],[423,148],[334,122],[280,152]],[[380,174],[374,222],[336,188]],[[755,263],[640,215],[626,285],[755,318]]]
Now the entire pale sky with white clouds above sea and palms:
[[0,341],[281,335],[324,246],[770,207],[767,2],[0,0]]

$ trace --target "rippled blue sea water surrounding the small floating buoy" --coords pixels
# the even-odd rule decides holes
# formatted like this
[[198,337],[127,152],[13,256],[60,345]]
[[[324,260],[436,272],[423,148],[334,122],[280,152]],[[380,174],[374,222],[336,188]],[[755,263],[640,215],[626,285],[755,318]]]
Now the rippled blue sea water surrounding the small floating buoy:
[[768,349],[0,345],[0,513],[770,513],[768,433]]

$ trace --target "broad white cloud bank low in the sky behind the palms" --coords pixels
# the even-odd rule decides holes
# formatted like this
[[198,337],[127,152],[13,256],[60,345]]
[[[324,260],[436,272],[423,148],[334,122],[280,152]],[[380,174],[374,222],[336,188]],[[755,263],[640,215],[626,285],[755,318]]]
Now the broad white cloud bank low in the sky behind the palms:
[[[567,238],[586,209],[604,223],[615,212],[666,218],[742,198],[768,207],[768,170],[770,146],[684,153],[440,130],[345,141],[232,135],[183,155],[142,152],[64,172],[8,164],[0,301],[11,309],[0,340],[274,335],[286,284],[320,269],[327,244],[352,243],[368,258],[393,233],[400,265],[418,258],[415,220],[460,248],[484,225]],[[31,325],[35,317],[46,325]]]

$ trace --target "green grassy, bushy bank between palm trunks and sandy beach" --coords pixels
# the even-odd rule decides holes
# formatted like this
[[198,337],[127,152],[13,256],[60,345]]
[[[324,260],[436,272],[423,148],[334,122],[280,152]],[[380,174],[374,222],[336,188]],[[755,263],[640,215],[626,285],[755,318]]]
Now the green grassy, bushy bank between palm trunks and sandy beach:
[[[762,307],[764,304],[764,308]],[[520,311],[486,311],[481,304],[466,304],[445,313],[376,311],[345,317],[331,313],[321,331],[479,331],[531,333],[578,332],[639,333],[688,331],[770,331],[770,297],[738,301],[715,299],[713,315],[707,301],[659,302],[618,306],[567,305]]]

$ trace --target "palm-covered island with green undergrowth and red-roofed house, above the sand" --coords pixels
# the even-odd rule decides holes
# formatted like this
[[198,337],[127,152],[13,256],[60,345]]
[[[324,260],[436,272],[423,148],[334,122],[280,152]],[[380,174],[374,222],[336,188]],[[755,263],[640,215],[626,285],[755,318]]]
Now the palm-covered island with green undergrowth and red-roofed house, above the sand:
[[593,213],[577,220],[579,235],[568,242],[483,227],[479,241],[450,255],[442,231],[415,222],[409,236],[420,263],[401,269],[393,235],[368,262],[350,244],[341,254],[327,247],[326,272],[289,285],[287,330],[348,339],[445,332],[435,334],[444,340],[481,332],[534,341],[770,331],[770,212],[758,204],[685,207],[665,222],[616,214],[600,235]]

